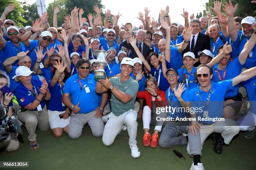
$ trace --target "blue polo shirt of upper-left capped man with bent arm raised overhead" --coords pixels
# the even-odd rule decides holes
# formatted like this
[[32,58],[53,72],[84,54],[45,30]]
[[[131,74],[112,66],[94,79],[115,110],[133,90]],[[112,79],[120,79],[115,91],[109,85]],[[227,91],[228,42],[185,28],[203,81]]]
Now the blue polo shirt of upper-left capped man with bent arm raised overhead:
[[[31,64],[31,68],[34,67],[35,63],[36,63],[36,52],[35,50],[37,51],[37,47],[40,47],[39,45],[39,40],[29,40],[30,41],[30,45],[27,47],[29,52],[28,52],[28,56],[31,57],[31,61],[32,61],[32,64]],[[47,46],[47,48],[50,50],[51,48],[49,46]],[[44,52],[47,52],[46,48],[43,49],[43,54]],[[44,57],[44,59],[46,59],[47,57],[47,53]],[[44,64],[44,59],[42,60],[42,63]]]

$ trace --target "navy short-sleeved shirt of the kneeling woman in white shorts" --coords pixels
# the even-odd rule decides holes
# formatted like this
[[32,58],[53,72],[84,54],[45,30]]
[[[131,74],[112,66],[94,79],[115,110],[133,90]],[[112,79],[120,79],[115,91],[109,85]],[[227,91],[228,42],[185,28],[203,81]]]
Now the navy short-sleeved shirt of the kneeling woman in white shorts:
[[66,106],[62,106],[61,97],[63,94],[63,88],[59,85],[59,82],[56,82],[54,86],[51,86],[51,80],[48,83],[49,91],[51,92],[51,99],[47,103],[48,110],[51,111],[65,111]]

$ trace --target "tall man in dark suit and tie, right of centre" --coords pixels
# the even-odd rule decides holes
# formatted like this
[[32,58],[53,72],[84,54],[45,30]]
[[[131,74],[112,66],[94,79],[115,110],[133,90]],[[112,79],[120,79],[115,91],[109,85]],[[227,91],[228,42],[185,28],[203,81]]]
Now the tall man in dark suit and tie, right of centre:
[[196,56],[196,62],[199,62],[199,57],[197,53],[202,50],[210,50],[210,37],[208,35],[202,34],[200,32],[200,20],[194,19],[190,21],[190,25],[193,28],[192,35],[190,37],[189,44],[187,48],[183,51],[186,52],[193,52]]

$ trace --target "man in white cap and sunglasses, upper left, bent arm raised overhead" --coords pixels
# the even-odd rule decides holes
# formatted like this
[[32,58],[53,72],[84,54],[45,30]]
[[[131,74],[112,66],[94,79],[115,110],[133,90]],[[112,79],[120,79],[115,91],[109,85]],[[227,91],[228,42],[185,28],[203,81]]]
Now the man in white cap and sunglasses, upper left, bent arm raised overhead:
[[[32,23],[32,25],[33,25],[32,30],[26,32],[24,35],[22,35],[20,37],[20,41],[23,42],[24,45],[27,47],[27,49],[30,51],[28,53],[28,55],[31,57],[31,60],[32,60],[31,68],[33,68],[34,64],[36,63],[35,50],[37,49],[37,47],[42,46],[44,48],[43,52],[47,51],[47,53],[48,53],[48,54],[46,54],[46,56],[44,58],[45,60],[44,59],[42,60],[44,67],[49,67],[50,57],[54,53],[53,47],[51,47],[51,50],[49,50],[50,48],[48,49],[48,45],[50,44],[50,42],[52,40],[51,32],[49,32],[49,31],[42,32],[39,40],[29,40],[31,35],[33,35],[37,31],[44,30],[44,28],[40,28],[41,23],[42,23],[42,21],[40,19],[36,19],[35,23],[34,22]],[[46,63],[49,63],[49,64],[46,65]]]

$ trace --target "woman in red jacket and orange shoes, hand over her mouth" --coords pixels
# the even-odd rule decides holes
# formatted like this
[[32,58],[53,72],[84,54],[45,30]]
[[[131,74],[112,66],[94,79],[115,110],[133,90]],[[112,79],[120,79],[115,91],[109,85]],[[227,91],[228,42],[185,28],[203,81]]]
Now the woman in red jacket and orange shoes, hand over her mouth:
[[[143,136],[143,145],[148,146],[150,144],[151,147],[156,148],[158,145],[158,133],[161,131],[162,124],[161,125],[156,125],[156,120],[151,120],[151,112],[152,114],[155,113],[155,109],[153,110],[153,106],[151,105],[152,101],[166,101],[166,95],[164,91],[161,91],[158,88],[158,83],[156,81],[155,77],[148,77],[146,78],[146,91],[139,91],[137,94],[138,98],[145,99],[146,100],[146,106],[143,108],[143,115],[142,115],[142,120],[143,120],[143,130],[144,130],[144,136]],[[161,107],[164,105],[167,105],[167,102],[159,102],[157,105],[154,107]],[[161,117],[161,115],[158,115]],[[154,117],[154,116],[153,116]],[[149,133],[149,124],[151,125],[156,125],[154,134],[151,135]],[[158,122],[159,124],[159,122]],[[150,143],[150,138],[151,138],[151,143]]]

